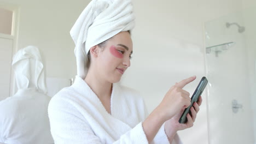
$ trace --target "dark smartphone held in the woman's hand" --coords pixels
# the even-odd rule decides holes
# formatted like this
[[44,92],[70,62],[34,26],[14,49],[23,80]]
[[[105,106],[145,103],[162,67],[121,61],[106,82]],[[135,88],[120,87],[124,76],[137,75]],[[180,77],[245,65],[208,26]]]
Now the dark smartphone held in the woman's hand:
[[187,107],[184,110],[181,118],[179,118],[179,123],[187,123],[187,121],[188,121],[187,114],[189,113],[191,115],[190,108],[191,108],[191,106],[193,106],[193,104],[195,102],[197,102],[198,98],[200,97],[203,90],[205,89],[207,83],[208,83],[208,80],[206,79],[205,76],[203,76],[201,81],[199,82],[199,85],[196,87],[195,92],[193,93],[193,95],[191,97],[191,104],[189,105],[189,107]]

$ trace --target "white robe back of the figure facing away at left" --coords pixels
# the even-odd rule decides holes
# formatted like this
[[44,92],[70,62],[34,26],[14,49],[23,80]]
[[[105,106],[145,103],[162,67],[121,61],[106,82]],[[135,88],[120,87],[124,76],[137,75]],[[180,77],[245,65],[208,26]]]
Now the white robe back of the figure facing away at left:
[[36,88],[19,89],[0,101],[0,142],[7,144],[53,143],[47,107],[50,97]]

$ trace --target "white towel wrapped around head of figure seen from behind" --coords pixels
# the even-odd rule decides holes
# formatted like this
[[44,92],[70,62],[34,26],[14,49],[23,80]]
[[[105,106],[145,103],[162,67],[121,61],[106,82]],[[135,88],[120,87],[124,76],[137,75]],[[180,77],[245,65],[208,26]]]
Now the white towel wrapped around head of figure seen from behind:
[[13,56],[13,69],[18,89],[37,88],[46,94],[44,65],[35,46],[27,46]]

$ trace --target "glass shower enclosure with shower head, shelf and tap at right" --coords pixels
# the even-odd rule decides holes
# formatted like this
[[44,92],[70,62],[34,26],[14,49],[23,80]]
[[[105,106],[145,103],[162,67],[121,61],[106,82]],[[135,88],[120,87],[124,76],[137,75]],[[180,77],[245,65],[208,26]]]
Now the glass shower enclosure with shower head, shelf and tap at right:
[[256,8],[205,22],[210,144],[256,143]]

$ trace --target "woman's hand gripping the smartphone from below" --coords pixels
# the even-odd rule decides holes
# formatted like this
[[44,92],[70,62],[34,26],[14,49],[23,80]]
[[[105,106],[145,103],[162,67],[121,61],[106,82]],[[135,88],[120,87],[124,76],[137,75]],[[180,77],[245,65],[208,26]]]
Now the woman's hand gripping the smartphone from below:
[[179,113],[177,113],[175,116],[173,116],[171,119],[165,122],[165,133],[168,137],[173,137],[178,130],[187,129],[190,127],[193,127],[193,124],[196,119],[196,114],[199,112],[200,108],[199,106],[202,104],[202,97],[200,96],[197,103],[194,103],[193,106],[191,106],[191,116],[187,115],[188,122],[187,123],[179,123],[179,118],[181,117],[184,109],[182,109]]

